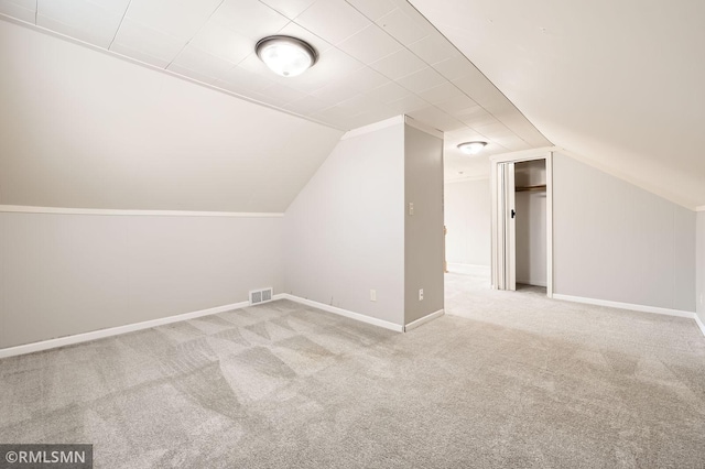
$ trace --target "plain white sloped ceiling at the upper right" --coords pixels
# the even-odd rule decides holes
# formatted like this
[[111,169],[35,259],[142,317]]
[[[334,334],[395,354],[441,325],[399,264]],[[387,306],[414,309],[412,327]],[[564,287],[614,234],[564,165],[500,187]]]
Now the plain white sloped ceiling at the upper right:
[[705,206],[704,1],[410,1],[554,144]]

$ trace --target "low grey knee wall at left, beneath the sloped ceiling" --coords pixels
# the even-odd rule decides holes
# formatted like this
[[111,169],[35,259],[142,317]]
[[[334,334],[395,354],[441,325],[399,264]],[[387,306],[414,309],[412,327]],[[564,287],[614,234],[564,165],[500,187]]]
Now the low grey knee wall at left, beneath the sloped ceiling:
[[0,212],[0,348],[283,287],[280,218]]

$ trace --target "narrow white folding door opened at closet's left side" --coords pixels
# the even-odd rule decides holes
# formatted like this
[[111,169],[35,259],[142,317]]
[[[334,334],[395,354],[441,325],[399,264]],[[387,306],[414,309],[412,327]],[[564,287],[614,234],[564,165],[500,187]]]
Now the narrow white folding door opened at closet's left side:
[[514,163],[497,165],[498,290],[517,290],[517,223]]

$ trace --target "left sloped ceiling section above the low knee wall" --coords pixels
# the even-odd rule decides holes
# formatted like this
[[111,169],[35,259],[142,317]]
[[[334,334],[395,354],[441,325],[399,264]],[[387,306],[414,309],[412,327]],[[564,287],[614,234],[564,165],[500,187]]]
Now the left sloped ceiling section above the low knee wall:
[[343,131],[0,21],[0,205],[281,212]]

